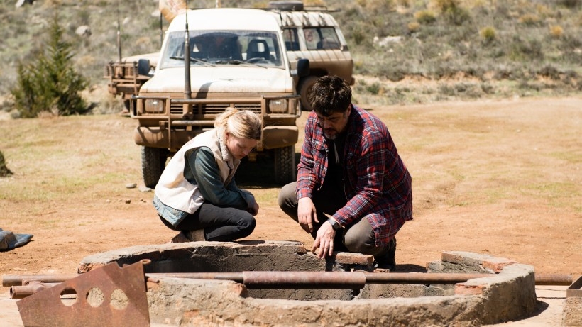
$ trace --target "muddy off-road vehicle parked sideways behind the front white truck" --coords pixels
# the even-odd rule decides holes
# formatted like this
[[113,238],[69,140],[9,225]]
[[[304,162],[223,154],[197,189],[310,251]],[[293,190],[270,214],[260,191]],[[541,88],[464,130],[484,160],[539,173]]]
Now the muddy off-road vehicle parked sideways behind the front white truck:
[[[339,10],[304,6],[302,1],[270,1],[268,8],[263,10],[272,13],[282,28],[291,69],[297,68],[297,59],[309,60],[309,74],[295,81],[302,110],[311,110],[307,92],[318,77],[333,74],[354,84],[351,53],[339,24],[332,16]],[[174,17],[165,13],[167,20]],[[129,109],[131,97],[137,95],[141,86],[152,77],[158,56],[159,52],[155,52],[109,62],[104,74],[109,79],[109,93],[121,96]]]

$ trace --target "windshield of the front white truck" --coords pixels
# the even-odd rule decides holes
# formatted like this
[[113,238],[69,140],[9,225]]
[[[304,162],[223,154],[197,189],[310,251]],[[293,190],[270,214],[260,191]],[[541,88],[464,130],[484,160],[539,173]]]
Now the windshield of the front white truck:
[[[278,35],[268,31],[190,31],[190,65],[283,68]],[[184,31],[168,34],[160,69],[184,66]]]

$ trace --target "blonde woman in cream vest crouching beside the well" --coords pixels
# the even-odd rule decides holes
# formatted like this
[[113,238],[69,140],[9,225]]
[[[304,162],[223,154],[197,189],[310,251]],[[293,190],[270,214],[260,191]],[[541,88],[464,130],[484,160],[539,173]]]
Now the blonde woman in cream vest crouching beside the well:
[[229,109],[216,117],[214,129],[188,141],[168,162],[153,205],[165,226],[180,231],[172,243],[251,235],[258,204],[253,194],[238,189],[234,173],[262,129],[256,113]]

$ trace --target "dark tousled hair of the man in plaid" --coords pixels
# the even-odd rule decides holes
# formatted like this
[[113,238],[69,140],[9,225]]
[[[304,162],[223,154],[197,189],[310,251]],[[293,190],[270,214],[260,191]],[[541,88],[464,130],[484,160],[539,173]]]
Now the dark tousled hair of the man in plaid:
[[313,110],[325,117],[336,112],[346,112],[351,104],[351,88],[344,79],[337,76],[319,77],[308,96]]

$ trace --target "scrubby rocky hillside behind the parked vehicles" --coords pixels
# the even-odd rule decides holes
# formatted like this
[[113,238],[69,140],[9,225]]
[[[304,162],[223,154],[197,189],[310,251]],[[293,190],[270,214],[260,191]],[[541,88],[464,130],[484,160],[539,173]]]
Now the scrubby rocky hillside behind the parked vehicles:
[[[158,0],[0,0],[0,96],[16,82],[18,62],[42,49],[58,15],[75,43],[79,72],[102,85],[104,64],[155,52],[167,23]],[[268,1],[189,1],[190,8]],[[25,3],[21,6],[15,4]],[[356,62],[356,94],[382,104],[443,99],[579,94],[582,0],[304,1],[340,9]]]

